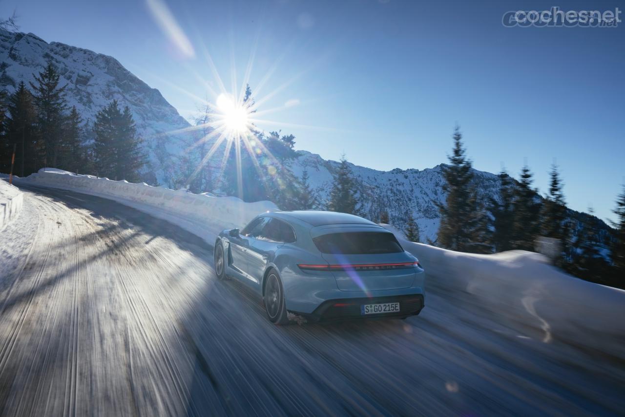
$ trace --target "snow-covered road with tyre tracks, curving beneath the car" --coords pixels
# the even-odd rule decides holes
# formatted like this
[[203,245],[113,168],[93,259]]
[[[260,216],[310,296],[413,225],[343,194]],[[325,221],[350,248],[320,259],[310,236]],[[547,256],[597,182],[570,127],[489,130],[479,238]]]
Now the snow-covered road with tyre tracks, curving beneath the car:
[[624,364],[431,285],[406,321],[276,327],[212,247],[119,203],[26,193],[0,234],[3,415],[618,414]]

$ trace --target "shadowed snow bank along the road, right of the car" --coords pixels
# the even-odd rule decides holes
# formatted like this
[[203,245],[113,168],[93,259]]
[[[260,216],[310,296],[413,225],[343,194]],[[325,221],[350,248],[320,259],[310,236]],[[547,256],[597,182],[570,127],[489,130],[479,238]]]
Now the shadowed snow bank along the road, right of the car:
[[[625,359],[625,291],[564,274],[546,257],[524,250],[475,255],[407,242],[392,226],[404,249],[427,273],[426,286],[507,319],[509,326],[528,327],[542,342],[564,341],[591,354]],[[426,302],[427,304],[427,302]]]

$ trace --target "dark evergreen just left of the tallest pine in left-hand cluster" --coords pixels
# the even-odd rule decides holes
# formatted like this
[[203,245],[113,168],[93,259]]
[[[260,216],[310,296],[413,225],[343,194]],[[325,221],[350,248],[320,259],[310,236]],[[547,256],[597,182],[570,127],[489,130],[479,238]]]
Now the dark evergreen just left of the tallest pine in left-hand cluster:
[[[29,175],[37,170],[37,157],[40,149],[36,132],[36,113],[32,103],[31,92],[22,81],[17,90],[9,96],[6,118],[6,138],[9,152],[16,144],[16,159],[14,172],[20,177]],[[10,161],[9,161],[10,164]]]

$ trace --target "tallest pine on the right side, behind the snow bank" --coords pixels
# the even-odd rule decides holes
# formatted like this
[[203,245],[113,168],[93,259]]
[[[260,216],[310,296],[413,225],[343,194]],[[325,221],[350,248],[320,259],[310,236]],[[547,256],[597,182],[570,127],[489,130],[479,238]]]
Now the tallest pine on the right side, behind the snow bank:
[[441,226],[437,243],[446,249],[460,252],[491,252],[488,217],[479,203],[476,190],[471,186],[471,160],[466,157],[466,150],[462,146],[459,126],[456,126],[453,140],[450,165],[442,168],[447,200],[446,204],[438,204]]

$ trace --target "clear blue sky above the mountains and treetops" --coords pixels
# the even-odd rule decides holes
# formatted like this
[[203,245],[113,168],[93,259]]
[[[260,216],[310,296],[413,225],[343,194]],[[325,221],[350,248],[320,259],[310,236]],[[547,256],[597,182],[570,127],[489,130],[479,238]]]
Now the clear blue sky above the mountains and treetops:
[[215,100],[205,83],[219,90],[204,51],[227,90],[240,88],[255,51],[249,84],[267,97],[259,110],[274,110],[259,128],[293,133],[298,149],[335,160],[345,152],[379,170],[428,168],[446,161],[457,122],[475,168],[504,164],[517,176],[527,160],[544,193],[556,158],[569,206],[613,218],[625,181],[625,22],[504,28],[501,18],[625,3],[432,3],[169,2],[193,54],[145,0],[3,0],[0,13],[16,9],[21,30],[46,41],[114,56],[186,117],[198,98]]

